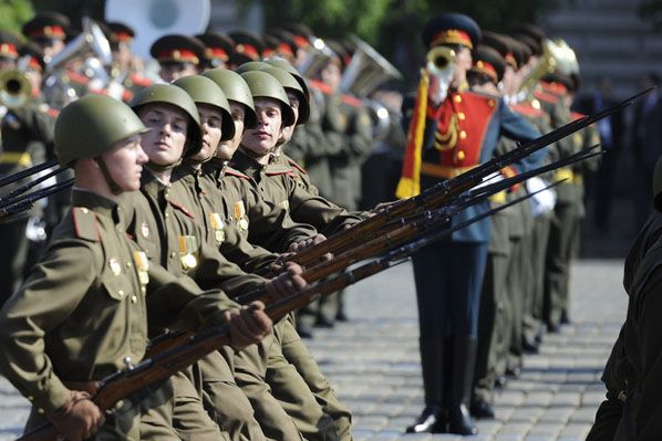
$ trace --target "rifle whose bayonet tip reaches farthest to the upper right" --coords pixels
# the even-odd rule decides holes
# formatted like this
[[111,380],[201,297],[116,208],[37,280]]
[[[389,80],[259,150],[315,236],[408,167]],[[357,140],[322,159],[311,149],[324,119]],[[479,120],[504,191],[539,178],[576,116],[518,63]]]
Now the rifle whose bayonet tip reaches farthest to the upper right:
[[288,260],[299,263],[303,266],[310,266],[311,264],[322,260],[322,256],[328,253],[343,252],[348,249],[356,246],[358,243],[363,243],[365,240],[372,239],[376,234],[385,234],[387,230],[384,231],[384,228],[392,220],[411,213],[423,212],[431,208],[434,209],[439,207],[442,203],[453,200],[458,195],[480,183],[487,176],[497,172],[514,161],[520,160],[521,158],[525,158],[526,156],[552,143],[556,143],[577,130],[586,128],[597,120],[623,109],[624,107],[634,103],[634,101],[642,95],[649,93],[652,88],[653,87],[648,88],[644,92],[641,92],[623,101],[622,103],[609,107],[594,115],[576,119],[531,141],[519,145],[517,148],[506,153],[505,155],[493,158],[487,162],[484,162],[455,178],[441,181],[415,197],[396,201],[385,209],[377,211],[371,218],[368,218],[355,223],[346,230],[333,234],[323,242],[309,246],[306,250],[293,254],[292,256],[288,258]]

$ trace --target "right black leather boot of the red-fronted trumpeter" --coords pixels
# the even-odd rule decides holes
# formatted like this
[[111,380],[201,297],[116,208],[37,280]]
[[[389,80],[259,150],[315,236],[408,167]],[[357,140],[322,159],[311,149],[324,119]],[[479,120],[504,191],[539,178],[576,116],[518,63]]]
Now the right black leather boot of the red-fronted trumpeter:
[[451,346],[453,368],[447,409],[448,432],[462,435],[476,434],[478,429],[467,409],[476,364],[476,338],[454,336],[451,339]]

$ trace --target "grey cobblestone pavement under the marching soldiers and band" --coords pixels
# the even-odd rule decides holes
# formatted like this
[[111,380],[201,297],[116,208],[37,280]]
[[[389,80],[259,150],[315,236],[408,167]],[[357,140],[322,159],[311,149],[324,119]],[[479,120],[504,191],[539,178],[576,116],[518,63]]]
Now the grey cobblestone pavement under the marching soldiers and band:
[[[496,397],[497,419],[479,421],[480,434],[472,439],[579,441],[588,433],[627,298],[621,261],[580,261],[572,271],[572,324],[527,356],[521,377]],[[351,321],[320,329],[309,346],[354,412],[356,441],[461,440],[403,434],[423,407],[411,265],[361,282],[345,300]],[[20,432],[28,411],[28,401],[0,378],[0,440]]]

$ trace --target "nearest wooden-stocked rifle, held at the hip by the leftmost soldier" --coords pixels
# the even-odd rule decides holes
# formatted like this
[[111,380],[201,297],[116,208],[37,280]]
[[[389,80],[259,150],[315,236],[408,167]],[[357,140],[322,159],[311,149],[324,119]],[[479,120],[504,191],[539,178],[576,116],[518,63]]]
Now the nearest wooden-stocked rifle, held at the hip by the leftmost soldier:
[[[402,245],[396,250],[390,251],[374,261],[365,263],[356,269],[345,271],[333,277],[329,277],[328,280],[313,286],[309,286],[297,294],[292,294],[272,302],[266,307],[265,311],[269,317],[271,317],[271,319],[275,322],[279,321],[292,311],[297,311],[300,307],[306,306],[322,295],[329,295],[361,280],[370,277],[371,275],[406,262],[408,256],[418,251],[421,248],[437,242],[458,229],[465,228],[473,222],[485,219],[497,211],[505,210],[506,208],[521,202],[534,195],[535,193],[525,195],[510,202],[504,203],[500,207],[461,222],[453,228],[435,231],[432,233],[427,232],[426,235],[417,238],[411,243]],[[188,335],[184,338],[182,335],[178,335],[176,346],[170,346],[148,358],[145,358],[132,369],[123,370],[104,378],[100,382],[99,390],[96,393],[94,393],[92,400],[102,411],[110,410],[117,401],[146,387],[169,378],[172,375],[185,369],[200,358],[225,345],[228,345],[229,343],[230,338],[228,335],[227,325],[204,330],[196,335]],[[29,433],[23,434],[17,441],[55,441],[58,438],[58,429],[51,423],[45,423],[35,428]]]

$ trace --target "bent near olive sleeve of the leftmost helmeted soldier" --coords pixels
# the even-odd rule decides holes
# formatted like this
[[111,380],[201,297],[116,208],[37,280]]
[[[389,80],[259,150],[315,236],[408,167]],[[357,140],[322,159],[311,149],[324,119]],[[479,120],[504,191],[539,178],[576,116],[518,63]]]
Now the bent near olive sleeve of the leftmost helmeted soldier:
[[99,254],[82,240],[51,243],[0,311],[2,375],[46,416],[64,405],[69,389],[54,372],[45,337],[68,319],[94,283],[103,265]]

